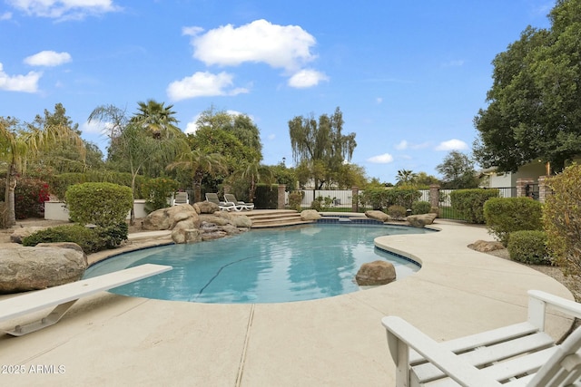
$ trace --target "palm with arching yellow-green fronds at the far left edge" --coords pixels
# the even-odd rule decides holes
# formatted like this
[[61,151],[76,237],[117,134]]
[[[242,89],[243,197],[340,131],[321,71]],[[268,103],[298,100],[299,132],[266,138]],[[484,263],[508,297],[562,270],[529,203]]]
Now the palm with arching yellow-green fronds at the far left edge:
[[28,125],[21,128],[13,118],[0,117],[0,160],[6,165],[5,184],[5,225],[16,223],[15,188],[20,173],[26,166],[51,145],[58,142],[72,142],[84,160],[84,142],[78,133],[66,125],[45,125],[36,128]]

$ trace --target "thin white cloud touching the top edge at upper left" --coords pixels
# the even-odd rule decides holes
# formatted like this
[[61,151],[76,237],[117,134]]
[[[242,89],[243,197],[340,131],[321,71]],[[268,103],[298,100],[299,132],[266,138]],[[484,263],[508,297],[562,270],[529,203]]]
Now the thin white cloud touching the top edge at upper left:
[[28,15],[55,19],[83,19],[86,15],[102,15],[119,11],[112,0],[7,0],[9,5]]

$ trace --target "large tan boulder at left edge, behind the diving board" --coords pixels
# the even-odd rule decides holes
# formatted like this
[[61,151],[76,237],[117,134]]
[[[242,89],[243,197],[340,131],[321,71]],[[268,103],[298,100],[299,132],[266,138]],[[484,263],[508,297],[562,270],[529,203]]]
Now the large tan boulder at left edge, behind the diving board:
[[83,249],[72,243],[0,249],[0,293],[18,293],[77,281],[87,268]]

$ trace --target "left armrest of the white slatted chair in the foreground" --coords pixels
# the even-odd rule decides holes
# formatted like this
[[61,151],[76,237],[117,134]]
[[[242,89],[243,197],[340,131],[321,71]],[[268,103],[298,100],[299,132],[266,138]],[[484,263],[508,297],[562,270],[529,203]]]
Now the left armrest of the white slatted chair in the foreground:
[[[399,358],[399,353],[405,350],[409,353],[409,347],[421,354],[429,363],[434,364],[439,370],[446,373],[454,381],[462,386],[501,386],[495,380],[486,380],[486,375],[479,372],[476,367],[467,363],[457,354],[452,353],[431,339],[427,334],[409,324],[397,316],[386,316],[381,319],[381,324],[388,331],[389,352],[393,357],[396,367],[401,373],[401,368],[409,368],[409,356],[404,354]],[[401,345],[404,345],[402,348]]]

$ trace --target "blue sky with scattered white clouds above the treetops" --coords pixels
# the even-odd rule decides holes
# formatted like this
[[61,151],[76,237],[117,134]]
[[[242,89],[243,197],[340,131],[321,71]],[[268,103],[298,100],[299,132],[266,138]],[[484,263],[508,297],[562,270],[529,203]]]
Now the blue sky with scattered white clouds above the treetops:
[[182,131],[201,111],[248,114],[264,163],[292,165],[288,121],[332,114],[355,132],[352,162],[395,182],[438,176],[468,155],[491,61],[555,1],[0,0],[0,116],[33,121],[63,103],[86,120],[113,104],[172,104]]

